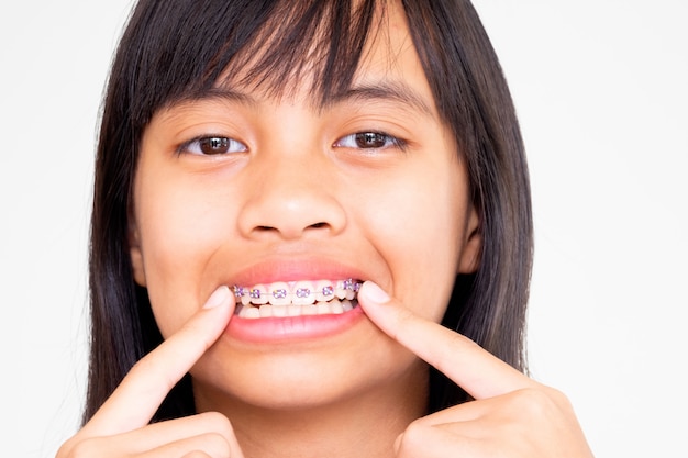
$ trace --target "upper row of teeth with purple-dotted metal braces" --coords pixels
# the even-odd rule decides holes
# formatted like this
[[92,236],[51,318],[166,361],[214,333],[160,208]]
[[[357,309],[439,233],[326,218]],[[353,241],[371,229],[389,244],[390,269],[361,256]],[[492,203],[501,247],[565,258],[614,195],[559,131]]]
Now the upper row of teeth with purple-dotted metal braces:
[[278,281],[270,284],[255,284],[251,288],[235,286],[234,295],[243,305],[310,305],[333,299],[356,298],[362,282],[346,280]]

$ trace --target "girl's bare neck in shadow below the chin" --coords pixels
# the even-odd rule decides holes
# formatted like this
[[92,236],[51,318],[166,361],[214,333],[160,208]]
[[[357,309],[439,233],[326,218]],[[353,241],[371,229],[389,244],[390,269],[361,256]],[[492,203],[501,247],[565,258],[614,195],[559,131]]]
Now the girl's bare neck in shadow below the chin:
[[425,413],[428,370],[414,367],[392,386],[376,387],[328,405],[258,407],[195,386],[199,412],[222,412],[246,458],[388,458],[393,442]]

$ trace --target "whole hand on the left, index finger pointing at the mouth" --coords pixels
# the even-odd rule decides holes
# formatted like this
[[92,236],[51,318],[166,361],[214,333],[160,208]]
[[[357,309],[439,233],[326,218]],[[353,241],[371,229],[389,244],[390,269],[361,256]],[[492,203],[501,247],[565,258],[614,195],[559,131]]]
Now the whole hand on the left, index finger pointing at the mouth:
[[234,294],[220,287],[177,333],[142,358],[56,458],[243,458],[230,421],[209,412],[149,424],[171,388],[220,337]]

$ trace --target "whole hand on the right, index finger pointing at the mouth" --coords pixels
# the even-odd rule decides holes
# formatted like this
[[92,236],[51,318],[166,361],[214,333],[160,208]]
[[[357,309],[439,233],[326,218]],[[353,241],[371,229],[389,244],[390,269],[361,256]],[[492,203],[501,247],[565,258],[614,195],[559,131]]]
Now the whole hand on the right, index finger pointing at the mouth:
[[397,438],[397,457],[592,457],[563,393],[421,319],[375,283],[360,288],[358,301],[382,332],[475,399],[411,423]]

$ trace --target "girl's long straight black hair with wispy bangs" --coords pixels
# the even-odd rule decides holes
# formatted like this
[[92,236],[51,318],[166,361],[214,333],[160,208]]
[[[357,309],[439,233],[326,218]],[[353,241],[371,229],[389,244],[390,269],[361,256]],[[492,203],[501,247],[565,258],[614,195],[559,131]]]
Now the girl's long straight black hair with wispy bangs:
[[[90,244],[91,348],[84,421],[157,346],[146,290],[129,250],[140,143],[162,108],[211,91],[228,69],[242,83],[288,93],[304,72],[326,103],[352,83],[385,0],[141,0],[108,81],[96,158]],[[442,120],[468,168],[480,217],[476,273],[459,276],[443,325],[525,370],[532,221],[524,148],[499,62],[468,0],[402,0]],[[384,18],[384,14],[382,14]],[[429,412],[467,394],[431,370]],[[193,413],[187,377],[155,420]]]

